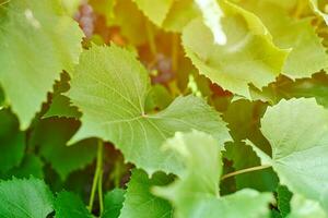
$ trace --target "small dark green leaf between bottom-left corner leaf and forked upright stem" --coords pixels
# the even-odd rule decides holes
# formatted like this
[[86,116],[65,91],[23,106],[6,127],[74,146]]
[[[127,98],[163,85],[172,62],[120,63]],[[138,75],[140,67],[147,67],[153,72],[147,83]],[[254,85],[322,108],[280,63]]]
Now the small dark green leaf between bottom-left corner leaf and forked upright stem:
[[80,197],[71,192],[62,191],[57,194],[54,203],[57,218],[92,218]]

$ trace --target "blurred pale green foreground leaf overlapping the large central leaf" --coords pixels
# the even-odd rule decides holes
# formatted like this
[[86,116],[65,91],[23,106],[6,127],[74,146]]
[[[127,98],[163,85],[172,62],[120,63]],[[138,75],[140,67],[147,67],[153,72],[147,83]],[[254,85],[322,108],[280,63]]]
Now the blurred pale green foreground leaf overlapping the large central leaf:
[[245,189],[219,196],[220,150],[223,146],[212,136],[198,131],[176,133],[164,147],[176,152],[185,164],[185,171],[178,180],[154,190],[156,195],[172,202],[176,217],[268,217],[268,204],[272,199],[269,193]]

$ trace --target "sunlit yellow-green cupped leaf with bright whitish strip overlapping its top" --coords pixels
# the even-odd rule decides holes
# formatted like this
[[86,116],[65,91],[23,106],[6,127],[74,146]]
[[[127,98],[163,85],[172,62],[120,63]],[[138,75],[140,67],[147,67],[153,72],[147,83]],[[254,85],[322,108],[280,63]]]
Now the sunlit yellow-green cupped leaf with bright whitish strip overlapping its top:
[[248,84],[262,87],[272,82],[288,51],[273,45],[267,28],[253,13],[221,2],[226,44],[215,45],[210,29],[201,20],[195,20],[183,32],[183,45],[201,74],[224,89],[250,98]]

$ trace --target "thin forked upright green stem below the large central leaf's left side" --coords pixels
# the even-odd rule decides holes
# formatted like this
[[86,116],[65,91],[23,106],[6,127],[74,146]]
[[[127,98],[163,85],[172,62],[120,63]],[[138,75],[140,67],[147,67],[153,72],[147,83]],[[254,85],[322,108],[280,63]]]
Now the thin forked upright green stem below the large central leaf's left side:
[[104,148],[104,144],[101,140],[98,140],[96,169],[95,169],[95,173],[93,177],[91,195],[90,195],[89,207],[87,207],[90,213],[92,213],[94,195],[95,195],[97,187],[98,187],[101,213],[103,211],[103,207],[104,207],[103,206],[103,187],[102,187],[102,183],[103,183],[103,148]]

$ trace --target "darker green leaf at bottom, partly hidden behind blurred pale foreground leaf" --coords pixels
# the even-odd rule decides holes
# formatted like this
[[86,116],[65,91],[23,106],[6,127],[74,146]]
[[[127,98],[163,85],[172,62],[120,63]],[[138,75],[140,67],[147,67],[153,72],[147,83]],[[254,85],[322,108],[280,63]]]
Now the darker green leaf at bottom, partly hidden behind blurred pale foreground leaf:
[[168,202],[151,193],[152,186],[166,185],[169,182],[172,182],[172,177],[163,172],[157,172],[150,179],[144,171],[133,170],[119,218],[139,217],[140,215],[144,218],[172,217],[173,210]]

